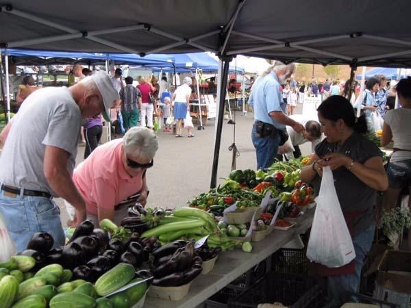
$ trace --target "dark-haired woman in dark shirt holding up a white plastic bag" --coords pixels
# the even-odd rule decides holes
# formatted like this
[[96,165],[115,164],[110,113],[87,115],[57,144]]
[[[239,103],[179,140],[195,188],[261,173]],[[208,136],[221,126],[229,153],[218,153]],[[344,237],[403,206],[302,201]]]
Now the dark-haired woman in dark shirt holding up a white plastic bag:
[[388,187],[382,164],[382,153],[373,142],[364,138],[364,116],[356,118],[348,99],[339,95],[329,97],[318,108],[325,140],[315,149],[312,163],[301,170],[305,182],[319,183],[323,167],[329,166],[341,209],[351,233],[356,258],[340,268],[316,266],[327,277],[330,307],[338,305],[344,291],[358,292],[364,256],[371,248],[375,232],[374,206],[377,191]]

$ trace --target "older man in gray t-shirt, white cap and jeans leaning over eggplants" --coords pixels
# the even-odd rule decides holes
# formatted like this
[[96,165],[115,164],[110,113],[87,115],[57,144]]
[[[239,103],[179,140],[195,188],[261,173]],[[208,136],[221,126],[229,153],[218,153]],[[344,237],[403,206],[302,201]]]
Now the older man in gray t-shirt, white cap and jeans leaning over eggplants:
[[86,218],[85,202],[71,179],[82,118],[105,115],[119,100],[103,72],[70,88],[32,93],[0,134],[0,214],[23,251],[35,232],[47,231],[55,246],[64,244],[60,196],[75,207],[75,227]]

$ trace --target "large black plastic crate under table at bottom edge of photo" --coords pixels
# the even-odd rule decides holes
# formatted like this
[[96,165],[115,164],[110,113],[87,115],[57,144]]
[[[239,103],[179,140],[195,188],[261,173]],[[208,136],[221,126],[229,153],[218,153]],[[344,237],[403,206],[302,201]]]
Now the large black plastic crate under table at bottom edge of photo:
[[306,274],[267,273],[236,298],[229,308],[257,308],[262,303],[282,303],[290,308],[323,307],[325,294],[318,278]]

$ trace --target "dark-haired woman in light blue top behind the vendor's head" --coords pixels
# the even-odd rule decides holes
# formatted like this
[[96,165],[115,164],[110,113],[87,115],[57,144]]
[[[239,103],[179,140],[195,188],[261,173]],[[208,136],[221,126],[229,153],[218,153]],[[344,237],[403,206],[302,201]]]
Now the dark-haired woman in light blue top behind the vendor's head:
[[365,119],[366,119],[366,126],[368,127],[368,131],[375,131],[373,119],[372,119],[372,112],[377,112],[377,103],[375,101],[375,92],[378,91],[379,88],[379,79],[371,77],[366,81],[365,90],[362,92],[362,97],[360,101],[354,105],[356,108],[360,108],[364,110]]

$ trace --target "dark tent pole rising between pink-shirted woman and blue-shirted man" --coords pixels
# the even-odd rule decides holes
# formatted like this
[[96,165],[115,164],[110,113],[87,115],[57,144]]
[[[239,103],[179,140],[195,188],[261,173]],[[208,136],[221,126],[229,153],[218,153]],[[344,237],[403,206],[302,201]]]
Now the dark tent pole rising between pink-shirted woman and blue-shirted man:
[[215,188],[217,184],[217,170],[219,168],[219,155],[220,155],[220,145],[221,145],[221,131],[223,129],[223,118],[224,118],[224,104],[225,104],[225,92],[227,92],[227,78],[228,78],[228,68],[229,62],[232,60],[232,57],[223,58],[223,75],[219,78],[220,85],[220,97],[219,97],[219,113],[216,118],[217,122],[217,131],[216,131],[216,140],[214,144],[214,158],[212,162],[212,173],[211,173],[211,183],[210,187]]

